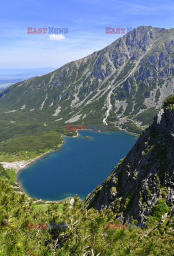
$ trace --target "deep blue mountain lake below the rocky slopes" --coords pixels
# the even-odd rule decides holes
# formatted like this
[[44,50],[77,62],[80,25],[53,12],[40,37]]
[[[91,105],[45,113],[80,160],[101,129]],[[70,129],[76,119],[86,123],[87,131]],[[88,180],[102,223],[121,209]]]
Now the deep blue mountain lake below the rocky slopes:
[[84,199],[110,175],[136,140],[126,132],[81,131],[79,137],[64,137],[59,150],[26,167],[18,180],[31,197],[57,201],[77,194]]

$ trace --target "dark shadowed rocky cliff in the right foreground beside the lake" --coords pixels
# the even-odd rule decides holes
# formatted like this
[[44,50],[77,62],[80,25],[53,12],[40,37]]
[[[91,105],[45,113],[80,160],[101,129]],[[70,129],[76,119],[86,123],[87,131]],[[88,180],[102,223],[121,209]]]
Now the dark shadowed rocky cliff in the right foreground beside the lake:
[[160,198],[174,203],[174,110],[161,109],[128,155],[85,199],[86,207],[111,208],[115,218],[143,221]]

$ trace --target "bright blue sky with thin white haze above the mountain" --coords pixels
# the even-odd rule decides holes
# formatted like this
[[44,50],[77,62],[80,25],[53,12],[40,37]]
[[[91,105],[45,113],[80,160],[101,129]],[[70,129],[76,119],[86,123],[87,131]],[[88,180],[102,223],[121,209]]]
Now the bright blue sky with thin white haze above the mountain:
[[[1,0],[0,11],[0,68],[59,68],[121,36],[105,34],[105,27],[174,27],[173,0]],[[57,41],[49,34],[27,34],[27,27],[69,33]]]

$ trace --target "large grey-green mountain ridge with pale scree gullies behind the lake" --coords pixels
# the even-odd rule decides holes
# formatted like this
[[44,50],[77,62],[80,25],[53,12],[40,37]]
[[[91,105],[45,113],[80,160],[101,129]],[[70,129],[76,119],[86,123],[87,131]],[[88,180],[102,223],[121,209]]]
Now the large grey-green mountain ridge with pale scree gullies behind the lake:
[[0,140],[63,133],[71,123],[141,133],[173,93],[173,42],[173,28],[140,26],[85,58],[12,85],[0,93]]

